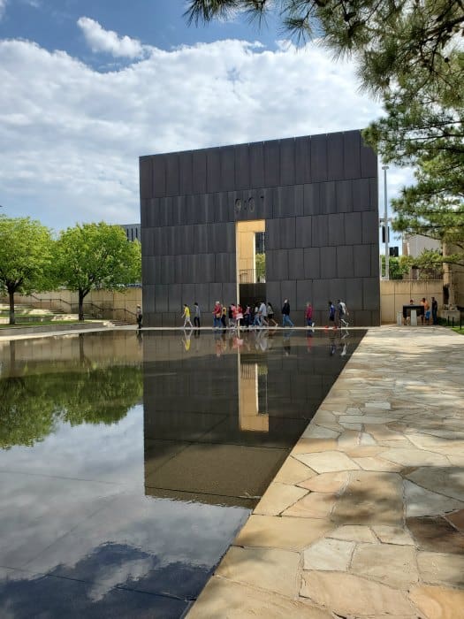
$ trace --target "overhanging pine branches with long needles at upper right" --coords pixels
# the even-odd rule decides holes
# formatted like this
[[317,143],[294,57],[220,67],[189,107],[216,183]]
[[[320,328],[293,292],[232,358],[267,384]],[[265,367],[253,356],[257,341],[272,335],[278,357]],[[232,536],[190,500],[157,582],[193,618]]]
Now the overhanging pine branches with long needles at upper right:
[[[189,22],[278,11],[286,32],[320,37],[357,64],[385,114],[363,132],[385,163],[415,166],[393,203],[396,230],[421,233],[464,257],[464,3],[462,0],[189,0]],[[448,262],[451,258],[448,256]]]

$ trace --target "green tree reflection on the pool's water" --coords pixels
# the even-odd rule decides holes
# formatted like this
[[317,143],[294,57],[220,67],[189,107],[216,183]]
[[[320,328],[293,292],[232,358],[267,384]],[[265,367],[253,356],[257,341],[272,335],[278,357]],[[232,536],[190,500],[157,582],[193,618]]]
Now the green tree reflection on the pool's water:
[[0,380],[0,447],[32,446],[58,424],[115,424],[141,401],[140,365]]

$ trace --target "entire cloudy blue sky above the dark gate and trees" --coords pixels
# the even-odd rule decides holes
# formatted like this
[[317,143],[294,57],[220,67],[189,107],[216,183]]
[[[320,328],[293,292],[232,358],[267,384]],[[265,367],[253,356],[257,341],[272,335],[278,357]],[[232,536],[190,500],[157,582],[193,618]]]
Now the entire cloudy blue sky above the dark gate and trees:
[[[0,0],[0,204],[60,230],[140,220],[138,157],[366,126],[350,61],[183,0]],[[410,179],[391,168],[389,196]],[[383,182],[380,203],[383,204]]]

